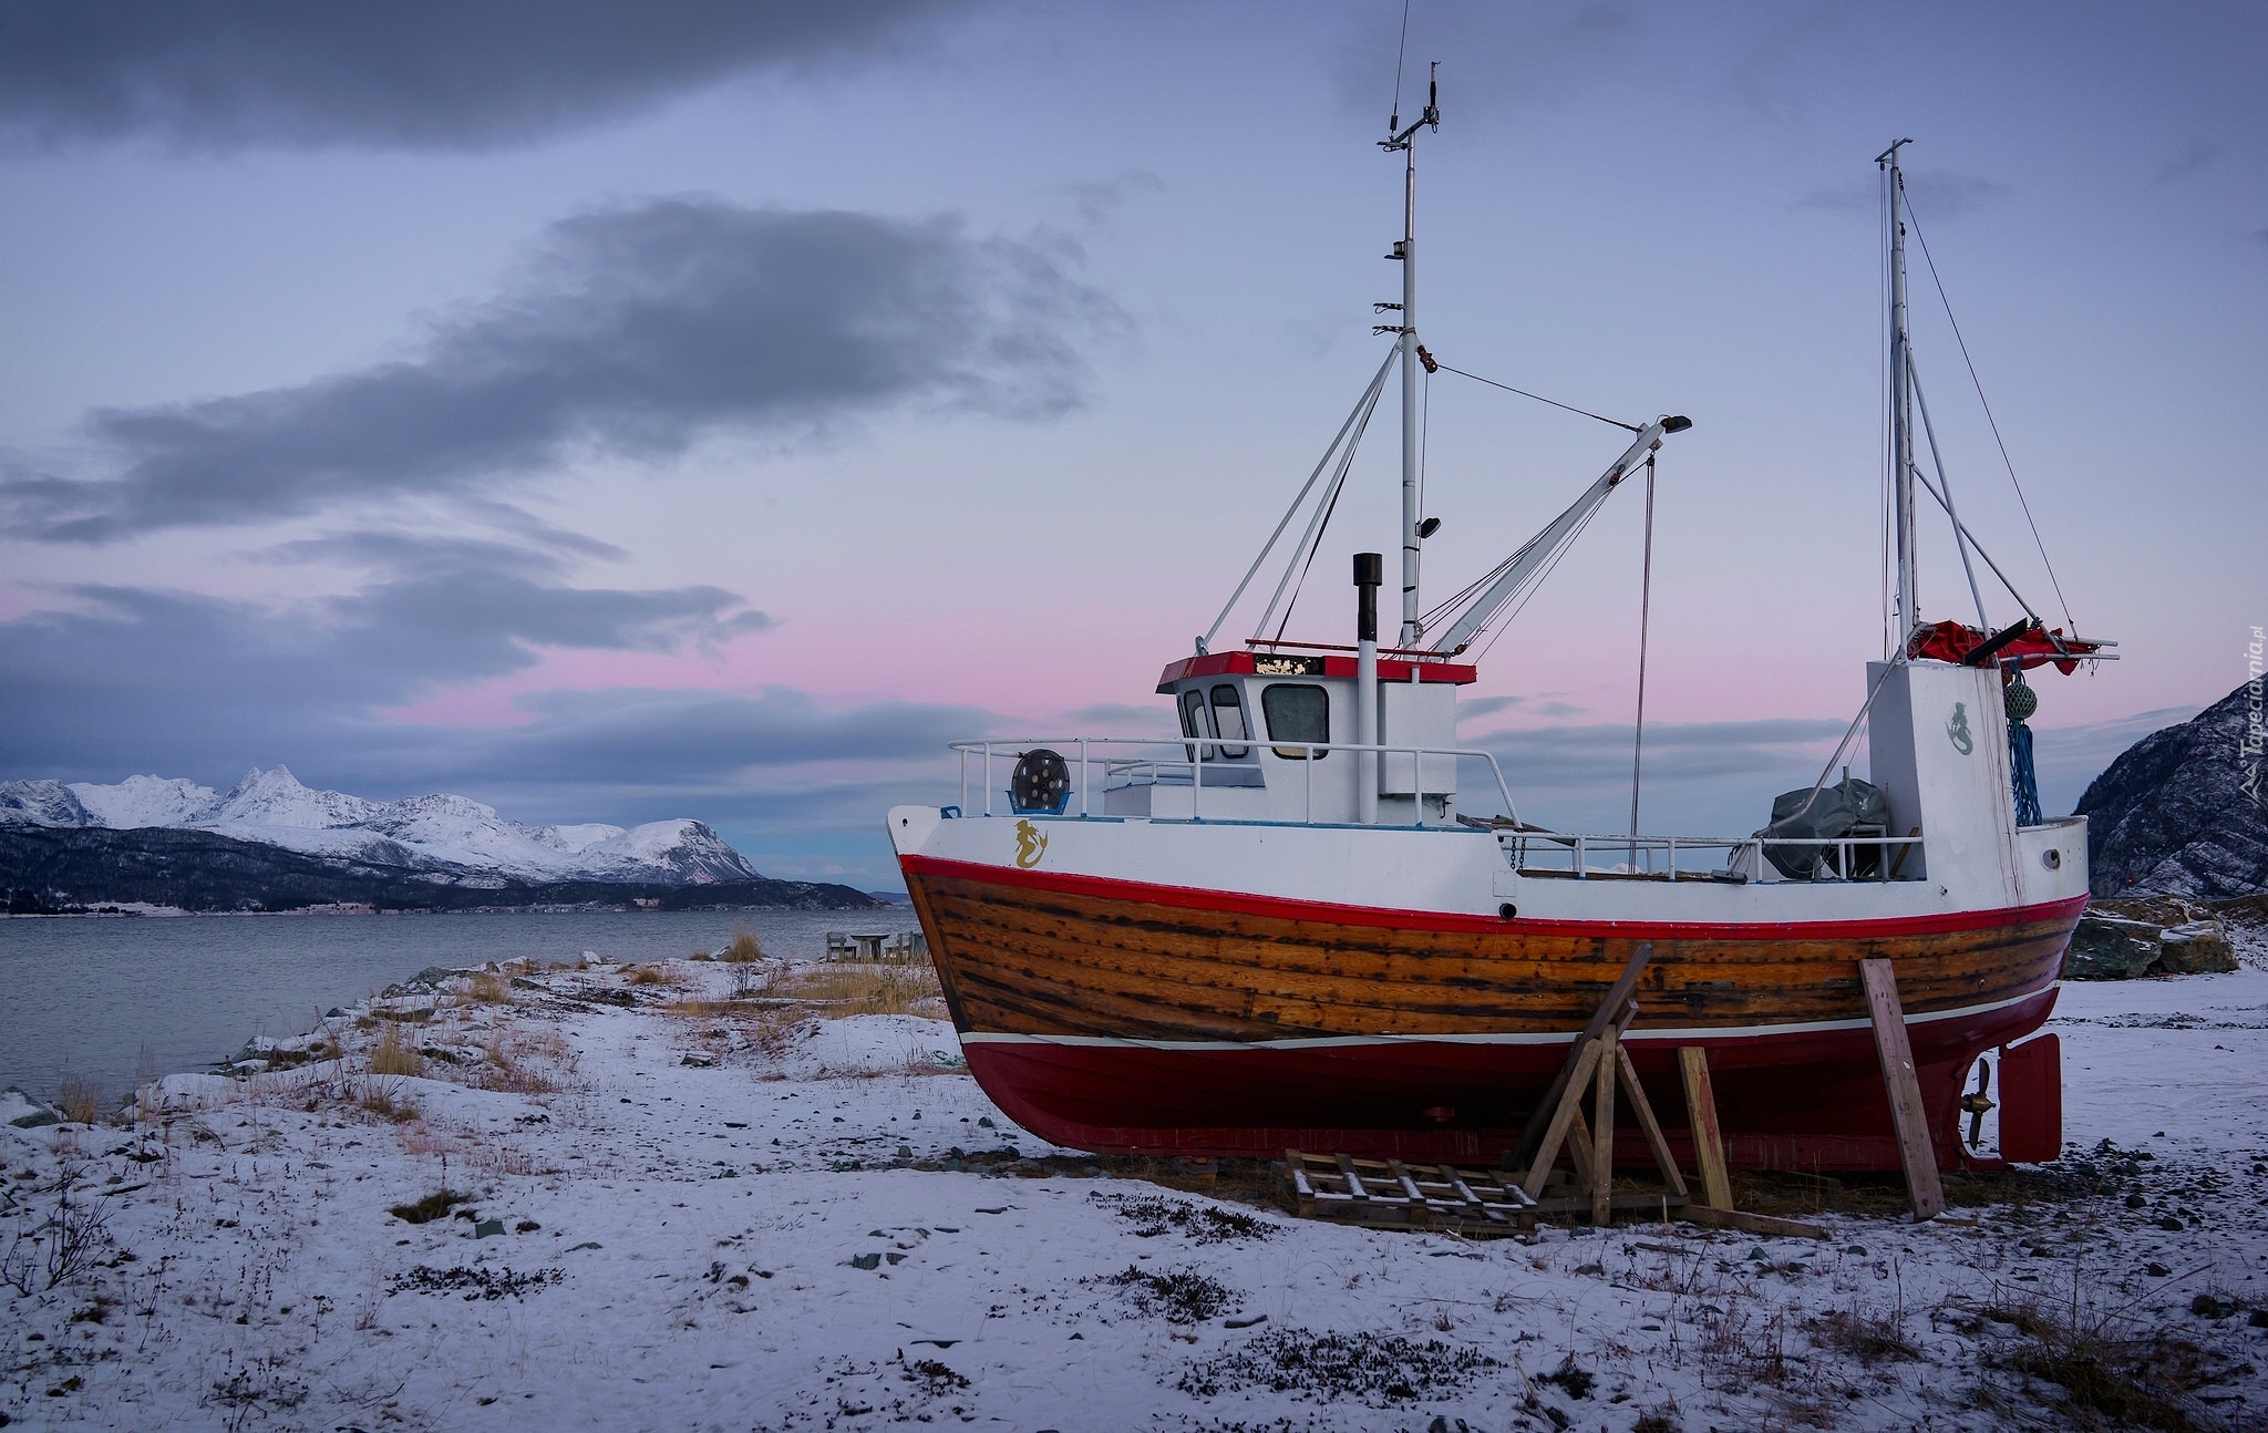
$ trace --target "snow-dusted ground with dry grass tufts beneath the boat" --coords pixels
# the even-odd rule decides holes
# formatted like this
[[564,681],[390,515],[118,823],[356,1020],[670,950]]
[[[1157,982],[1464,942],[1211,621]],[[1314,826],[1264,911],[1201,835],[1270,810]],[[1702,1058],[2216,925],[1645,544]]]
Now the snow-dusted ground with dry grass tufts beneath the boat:
[[[0,1286],[9,1426],[2268,1415],[2257,968],[2066,986],[2073,1156],[1926,1227],[1821,1215],[1826,1243],[1302,1222],[1014,1129],[934,1002],[830,1020],[733,1002],[764,991],[744,966],[660,975],[451,980],[270,1041],[243,1077],[168,1077],[136,1122],[0,1129],[0,1247],[27,1233],[0,1272],[29,1288]],[[390,1029],[429,1077],[367,1075]],[[86,1258],[48,1288],[66,1188]],[[440,1218],[388,1213],[445,1188],[465,1197]]]

